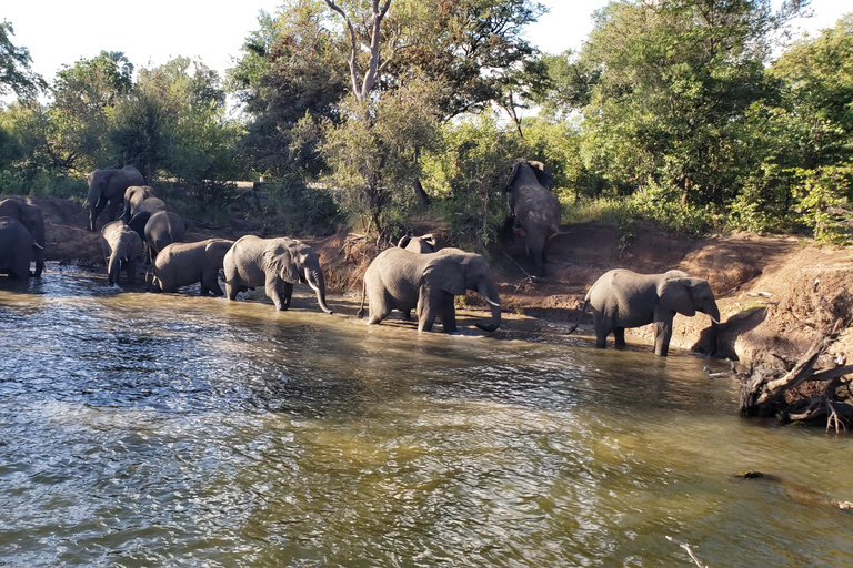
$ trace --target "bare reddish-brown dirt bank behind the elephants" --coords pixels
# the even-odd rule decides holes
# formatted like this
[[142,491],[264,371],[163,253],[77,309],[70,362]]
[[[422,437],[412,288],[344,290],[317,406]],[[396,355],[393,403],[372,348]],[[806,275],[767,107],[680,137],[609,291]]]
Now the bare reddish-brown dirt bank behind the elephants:
[[[89,266],[103,264],[98,234],[84,229],[88,212],[82,205],[56,197],[28,200],[44,213],[47,260]],[[424,231],[434,229],[426,222],[420,225],[418,229]],[[191,221],[188,226],[188,240],[237,239],[241,234],[233,229]],[[538,282],[521,270],[532,272],[521,239],[490,251],[510,320],[534,317],[569,325],[576,318],[589,286],[608,270],[624,267],[644,273],[680,268],[711,283],[723,316],[716,336],[713,337],[705,315],[676,316],[673,347],[743,362],[761,363],[773,357],[771,353],[795,359],[829,322],[841,317],[850,325],[853,321],[850,248],[825,250],[794,237],[745,234],[694,240],[641,225],[628,241],[615,227],[596,223],[566,225],[563,230],[566,234],[555,236],[546,246],[546,276]],[[439,233],[442,244],[451,244],[446,233]],[[345,232],[307,241],[320,253],[329,292],[354,301],[361,292],[361,277],[377,254],[375,245],[365,240],[348,240]],[[468,301],[480,306],[475,294]],[[589,325],[590,320],[584,323]],[[634,342],[652,339],[651,326],[629,333]],[[840,362],[849,358],[847,353],[853,353],[853,334],[849,328],[827,356]]]

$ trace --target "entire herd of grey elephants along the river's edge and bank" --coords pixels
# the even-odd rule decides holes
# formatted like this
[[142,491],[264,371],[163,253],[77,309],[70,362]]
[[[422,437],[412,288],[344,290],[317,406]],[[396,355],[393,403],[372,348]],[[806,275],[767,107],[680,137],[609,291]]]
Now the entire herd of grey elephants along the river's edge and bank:
[[[550,180],[551,173],[541,162],[516,160],[506,183],[505,234],[511,235],[516,227],[523,231],[538,275],[544,274],[545,241],[560,232],[561,207],[546,189]],[[314,291],[323,312],[333,313],[325,301],[318,254],[295,239],[245,235],[237,241],[183,242],[184,221],[132,166],[92,172],[88,203],[90,231],[96,230],[104,209],[112,219],[123,203],[121,216],[103,225],[100,233],[110,284],[118,284],[121,271],[133,283],[137,262],[144,255],[145,284],[152,292],[175,292],[200,283],[202,295],[237,300],[240,292],[263,286],[275,308],[283,311],[290,307],[293,285],[301,282]],[[41,211],[17,200],[0,201],[0,274],[18,280],[39,277],[43,258]],[[32,261],[36,270],[30,272]],[[219,284],[220,273],[224,292]],[[364,273],[358,316],[364,315],[367,298],[368,324],[382,322],[394,310],[410,320],[414,310],[419,331],[432,331],[438,318],[445,333],[454,333],[455,297],[469,290],[483,297],[492,314],[490,322],[475,325],[494,332],[501,324],[501,300],[486,260],[460,248],[436,250],[433,235],[404,236],[398,246],[381,252]],[[693,316],[703,312],[714,324],[720,321],[709,283],[681,271],[652,275],[610,271],[588,292],[580,317],[588,306],[593,313],[596,347],[604,347],[610,334],[618,346],[624,345],[625,328],[654,323],[654,352],[661,356],[668,353],[676,313]]]

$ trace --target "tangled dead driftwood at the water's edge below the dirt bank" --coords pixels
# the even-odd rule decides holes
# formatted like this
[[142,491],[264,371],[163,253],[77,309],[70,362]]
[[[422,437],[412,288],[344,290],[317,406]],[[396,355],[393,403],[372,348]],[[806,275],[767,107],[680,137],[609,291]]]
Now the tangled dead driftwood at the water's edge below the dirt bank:
[[[853,365],[815,371],[817,358],[835,341],[842,321],[835,322],[829,334],[815,337],[811,347],[789,369],[762,368],[741,378],[740,409],[745,416],[777,416],[783,422],[812,420],[827,416],[826,428],[834,425],[835,430],[846,429],[853,419],[853,406],[831,395],[839,386],[839,379],[853,374]],[[781,357],[777,357],[784,362]],[[720,374],[720,375],[727,375]],[[710,376],[710,375],[709,375]],[[804,383],[820,384],[821,388],[812,396],[792,396]]]

